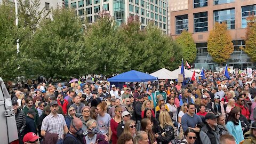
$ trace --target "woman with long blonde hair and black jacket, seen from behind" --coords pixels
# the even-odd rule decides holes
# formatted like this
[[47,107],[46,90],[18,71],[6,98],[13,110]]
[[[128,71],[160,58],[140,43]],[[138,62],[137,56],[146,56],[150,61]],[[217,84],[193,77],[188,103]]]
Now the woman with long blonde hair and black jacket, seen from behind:
[[174,140],[174,128],[170,114],[168,111],[161,111],[159,115],[160,133],[155,134],[158,142],[169,143]]

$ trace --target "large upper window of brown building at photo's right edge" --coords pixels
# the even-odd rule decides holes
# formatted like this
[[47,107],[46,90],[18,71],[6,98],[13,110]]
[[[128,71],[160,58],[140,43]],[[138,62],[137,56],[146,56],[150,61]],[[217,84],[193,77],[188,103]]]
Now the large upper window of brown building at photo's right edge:
[[246,18],[249,15],[256,15],[256,5],[242,6],[242,28],[247,27]]

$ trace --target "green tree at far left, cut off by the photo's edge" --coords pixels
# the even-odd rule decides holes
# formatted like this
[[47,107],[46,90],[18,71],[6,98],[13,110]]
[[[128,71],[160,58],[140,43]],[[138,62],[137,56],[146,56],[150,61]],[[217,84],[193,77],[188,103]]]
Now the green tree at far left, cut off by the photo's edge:
[[17,27],[14,5],[3,2],[0,5],[0,76],[12,80],[20,73],[16,53]]

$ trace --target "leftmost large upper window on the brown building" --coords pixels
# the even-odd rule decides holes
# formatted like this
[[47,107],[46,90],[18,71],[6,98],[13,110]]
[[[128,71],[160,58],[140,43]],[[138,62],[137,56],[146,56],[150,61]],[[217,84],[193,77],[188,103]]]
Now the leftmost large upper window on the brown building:
[[[164,17],[164,22],[165,22]],[[178,15],[175,17],[175,34],[181,34],[182,30],[188,30],[188,14]]]

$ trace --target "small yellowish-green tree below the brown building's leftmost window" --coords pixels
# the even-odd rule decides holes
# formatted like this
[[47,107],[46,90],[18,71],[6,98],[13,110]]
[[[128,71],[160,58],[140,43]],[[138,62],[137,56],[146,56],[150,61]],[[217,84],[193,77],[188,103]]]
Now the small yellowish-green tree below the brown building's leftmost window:
[[176,39],[176,42],[180,45],[184,61],[193,63],[196,59],[196,44],[192,37],[192,34],[187,30],[183,30],[181,35]]

